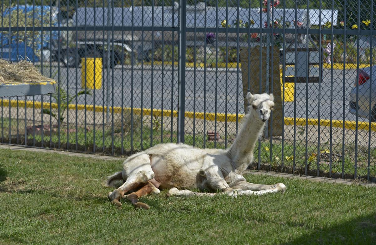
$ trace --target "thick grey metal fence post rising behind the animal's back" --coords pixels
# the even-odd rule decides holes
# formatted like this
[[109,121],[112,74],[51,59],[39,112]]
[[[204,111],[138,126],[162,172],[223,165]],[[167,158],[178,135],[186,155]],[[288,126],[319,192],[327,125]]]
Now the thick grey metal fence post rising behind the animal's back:
[[179,21],[179,114],[177,142],[184,143],[184,113],[185,113],[185,28],[186,28],[186,0],[180,0]]

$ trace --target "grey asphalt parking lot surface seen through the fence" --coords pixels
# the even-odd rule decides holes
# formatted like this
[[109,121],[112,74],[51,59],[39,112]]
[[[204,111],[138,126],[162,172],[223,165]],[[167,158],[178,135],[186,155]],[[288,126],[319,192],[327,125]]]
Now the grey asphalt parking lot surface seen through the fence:
[[[49,70],[47,67],[44,70],[47,76]],[[60,75],[56,71],[58,68],[52,67],[52,74],[55,74],[56,79],[60,78],[63,88],[68,86],[70,94],[76,91],[76,87],[78,90],[81,89],[80,68],[61,67]],[[177,67],[173,70],[171,66],[166,66],[163,71],[160,66],[155,68],[144,66],[143,69],[137,66],[133,69],[133,74],[130,66],[124,68],[117,66],[114,70],[109,70],[109,74],[104,70],[103,86],[95,91],[95,97],[81,96],[78,98],[78,104],[106,105],[108,103],[111,106],[113,103],[114,106],[130,107],[133,94],[133,107],[176,110],[179,95],[178,76]],[[355,120],[355,115],[349,113],[349,101],[347,101],[355,77],[356,70],[346,70],[343,79],[343,70],[333,70],[331,76],[331,70],[324,69],[321,85],[309,83],[306,87],[305,83],[298,83],[295,88],[295,101],[285,103],[285,116],[305,118],[308,113],[308,118],[318,118],[320,115],[321,119],[342,120],[344,116],[345,120]],[[105,89],[106,82],[109,85],[108,94]],[[223,68],[217,71],[214,68],[207,68],[206,71],[203,68],[196,70],[187,68],[185,108],[187,111],[196,112],[243,113],[241,83],[241,72],[237,73],[236,69],[229,69],[226,72]],[[306,97],[306,89],[308,89],[308,97]],[[40,97],[35,99],[40,101]],[[363,120],[359,118],[359,121]]]

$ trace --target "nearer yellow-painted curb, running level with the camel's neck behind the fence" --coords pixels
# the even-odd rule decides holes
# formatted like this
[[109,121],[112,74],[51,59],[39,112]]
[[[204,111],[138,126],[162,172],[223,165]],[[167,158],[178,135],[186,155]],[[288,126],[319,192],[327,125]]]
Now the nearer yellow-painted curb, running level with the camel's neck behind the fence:
[[[17,100],[3,100],[3,106],[9,106],[9,103],[11,103],[12,107],[17,107]],[[35,101],[34,106],[36,109],[39,109],[42,107],[42,103],[39,101]],[[18,107],[25,107],[25,101],[18,101]],[[26,107],[27,108],[33,108],[33,102],[32,101],[26,101]],[[47,102],[43,103],[44,108],[50,108],[50,104]],[[51,107],[53,109],[58,108],[58,104],[56,103],[51,103]],[[68,106],[69,109],[75,110],[76,105],[75,104],[70,104]],[[103,106],[92,106],[92,105],[83,105],[83,104],[78,104],[77,105],[77,110],[86,110],[88,111],[96,111],[96,112],[103,112],[103,110],[106,110],[107,107]],[[112,112],[112,108],[109,108],[109,111]],[[124,107],[123,111],[125,112],[131,112],[132,108],[130,107]],[[133,113],[135,115],[141,115],[141,112],[143,113],[144,116],[149,116],[152,114],[151,109],[141,109],[141,108],[133,108]],[[121,113],[121,107],[114,107],[114,113]],[[153,109],[153,115],[155,116],[173,116],[177,117],[178,112],[177,110],[161,110],[161,109]],[[195,118],[195,119],[206,119],[208,121],[215,121],[215,113],[203,113],[203,112],[185,112],[185,117],[186,118]],[[218,122],[225,122],[227,117],[227,122],[236,122],[237,118],[238,120],[243,118],[243,115],[237,115],[236,114],[225,114],[225,113],[217,113],[217,121]],[[310,126],[318,126],[318,119],[311,119],[309,118],[308,121],[306,122],[305,118],[296,118],[296,125],[297,126],[305,126],[306,124]],[[294,118],[292,117],[285,117],[285,125],[294,125]],[[323,119],[320,120],[320,126],[324,127],[329,127],[331,124],[331,121],[328,119]],[[332,126],[337,127],[337,128],[342,128],[343,127],[343,121],[340,120],[332,120]],[[350,129],[350,130],[355,130],[356,129],[356,122],[355,121],[344,121],[344,127],[345,129]],[[368,130],[369,129],[369,123],[368,122],[358,122],[358,130]],[[376,131],[376,122],[371,122],[371,130]]]

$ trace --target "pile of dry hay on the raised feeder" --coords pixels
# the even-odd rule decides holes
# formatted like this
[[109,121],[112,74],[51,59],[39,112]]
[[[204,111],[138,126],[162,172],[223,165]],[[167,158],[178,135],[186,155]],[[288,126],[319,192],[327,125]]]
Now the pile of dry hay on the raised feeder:
[[30,61],[21,60],[18,63],[12,63],[8,60],[0,59],[0,83],[48,81],[54,80],[43,76]]

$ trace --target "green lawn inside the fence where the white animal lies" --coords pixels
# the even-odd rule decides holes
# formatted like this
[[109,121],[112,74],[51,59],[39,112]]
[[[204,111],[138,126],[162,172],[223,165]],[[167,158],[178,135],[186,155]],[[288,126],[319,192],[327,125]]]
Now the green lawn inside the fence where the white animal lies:
[[0,244],[372,244],[376,191],[246,175],[287,192],[144,197],[150,210],[109,205],[102,185],[120,161],[0,150]]

